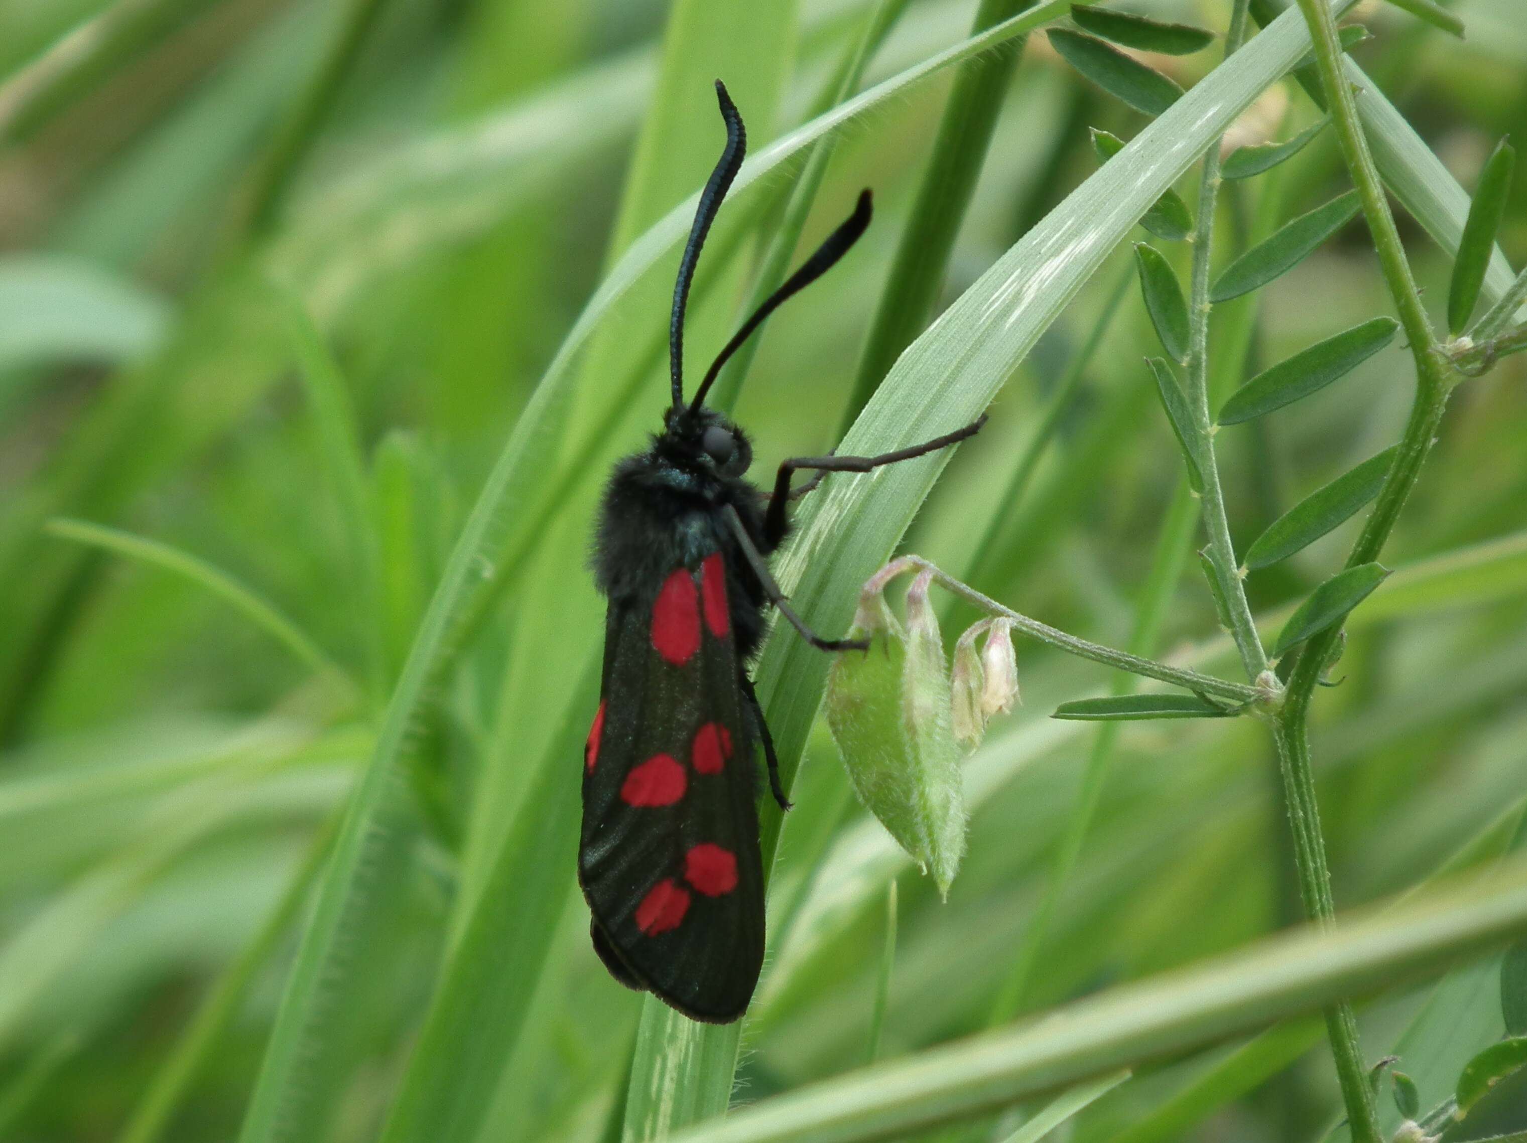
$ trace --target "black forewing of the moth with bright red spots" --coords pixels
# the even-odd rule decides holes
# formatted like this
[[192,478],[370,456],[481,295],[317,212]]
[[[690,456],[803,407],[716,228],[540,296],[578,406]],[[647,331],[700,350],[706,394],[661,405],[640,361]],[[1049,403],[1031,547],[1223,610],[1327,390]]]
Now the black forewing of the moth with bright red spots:
[[579,850],[612,975],[721,1022],[747,1009],[764,963],[757,763],[739,679],[721,552],[611,603]]

